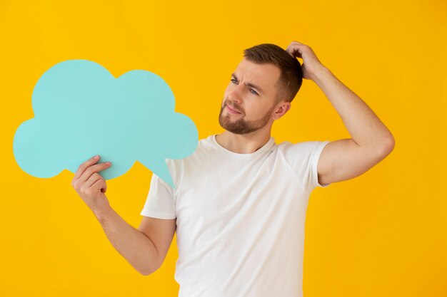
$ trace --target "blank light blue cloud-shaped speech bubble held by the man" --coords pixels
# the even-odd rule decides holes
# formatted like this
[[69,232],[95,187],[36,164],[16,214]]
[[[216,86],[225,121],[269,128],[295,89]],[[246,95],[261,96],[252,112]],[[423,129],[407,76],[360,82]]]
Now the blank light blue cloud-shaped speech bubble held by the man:
[[114,78],[86,60],[51,67],[32,95],[34,118],[14,135],[16,162],[35,177],[75,173],[94,155],[112,162],[104,179],[126,173],[135,161],[171,184],[166,159],[191,155],[198,144],[194,122],[174,112],[169,85],[155,73],[134,70]]

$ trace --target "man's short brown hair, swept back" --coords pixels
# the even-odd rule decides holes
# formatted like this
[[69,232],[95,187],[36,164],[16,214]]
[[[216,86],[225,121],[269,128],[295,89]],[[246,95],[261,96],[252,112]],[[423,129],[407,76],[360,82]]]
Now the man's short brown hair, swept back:
[[292,102],[303,83],[301,63],[283,48],[272,43],[262,43],[243,50],[243,56],[253,63],[271,63],[281,71],[276,88],[276,100]]

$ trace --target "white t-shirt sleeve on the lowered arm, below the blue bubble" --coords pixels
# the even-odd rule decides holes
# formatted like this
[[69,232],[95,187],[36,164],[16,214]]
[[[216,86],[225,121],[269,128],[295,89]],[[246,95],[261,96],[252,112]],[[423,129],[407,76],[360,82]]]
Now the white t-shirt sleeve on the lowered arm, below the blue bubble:
[[157,219],[176,218],[174,189],[156,174],[152,174],[149,194],[140,214]]

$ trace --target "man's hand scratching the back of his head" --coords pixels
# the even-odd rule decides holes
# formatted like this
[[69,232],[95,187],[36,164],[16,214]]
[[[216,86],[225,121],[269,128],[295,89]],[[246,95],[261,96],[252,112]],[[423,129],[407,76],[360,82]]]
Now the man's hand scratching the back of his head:
[[313,52],[312,48],[306,46],[306,44],[298,41],[292,41],[292,43],[290,43],[286,48],[286,51],[293,58],[303,59],[303,64],[301,65],[303,78],[314,80],[316,71],[324,67],[320,60],[316,57],[316,54]]

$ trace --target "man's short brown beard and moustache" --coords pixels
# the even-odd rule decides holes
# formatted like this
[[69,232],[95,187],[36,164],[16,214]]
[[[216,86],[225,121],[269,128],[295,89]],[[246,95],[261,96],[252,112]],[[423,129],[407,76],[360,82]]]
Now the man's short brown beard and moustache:
[[[251,120],[251,121],[244,120],[243,119],[244,115],[242,113],[243,115],[242,118],[232,122],[231,115],[229,114],[224,116],[222,115],[222,113],[224,112],[224,108],[226,108],[227,104],[228,103],[224,104],[224,106],[221,108],[221,112],[219,113],[219,124],[225,130],[234,134],[248,134],[261,129],[262,127],[265,127],[271,118],[271,113],[273,109],[275,108],[275,105],[273,105],[270,108],[270,110],[268,110],[267,113],[258,120]],[[230,105],[230,107],[233,108],[233,105]],[[240,111],[239,108],[235,107],[234,109]]]

